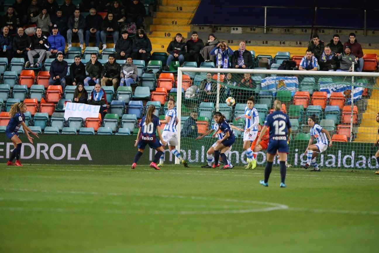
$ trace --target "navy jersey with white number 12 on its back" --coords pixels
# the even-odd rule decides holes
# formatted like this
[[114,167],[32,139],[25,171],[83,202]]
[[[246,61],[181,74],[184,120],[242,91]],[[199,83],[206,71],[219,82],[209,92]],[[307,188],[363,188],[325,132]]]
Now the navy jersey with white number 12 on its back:
[[276,136],[285,136],[287,140],[288,128],[291,128],[290,118],[282,111],[274,111],[267,115],[265,126],[270,127],[270,139]]

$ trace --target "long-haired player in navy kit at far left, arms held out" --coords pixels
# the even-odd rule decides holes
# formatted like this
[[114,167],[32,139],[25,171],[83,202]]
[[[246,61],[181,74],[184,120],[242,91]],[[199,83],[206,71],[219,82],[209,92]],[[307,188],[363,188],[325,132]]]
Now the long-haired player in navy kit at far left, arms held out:
[[[9,110],[9,117],[11,119],[9,119],[8,126],[6,126],[5,134],[13,142],[14,149],[6,165],[22,166],[20,162],[22,141],[20,140],[19,133],[18,133],[21,126],[23,127],[25,134],[28,137],[28,140],[31,142],[31,144],[33,144],[33,137],[29,135],[29,132],[30,134],[33,134],[34,136],[39,138],[38,134],[30,130],[29,127],[27,127],[27,125],[25,124],[25,115],[23,113],[26,111],[27,111],[27,106],[25,103],[14,103],[11,106],[11,109]],[[13,163],[13,159],[15,157],[16,157],[16,162]]]

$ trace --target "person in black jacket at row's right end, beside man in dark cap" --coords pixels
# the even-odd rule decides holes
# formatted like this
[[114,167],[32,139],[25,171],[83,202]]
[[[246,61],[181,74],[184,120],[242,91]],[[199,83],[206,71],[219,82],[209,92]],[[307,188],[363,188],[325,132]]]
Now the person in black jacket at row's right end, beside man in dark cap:
[[135,60],[144,60],[147,66],[150,52],[152,50],[150,39],[143,29],[137,30],[137,36],[133,40],[132,58]]

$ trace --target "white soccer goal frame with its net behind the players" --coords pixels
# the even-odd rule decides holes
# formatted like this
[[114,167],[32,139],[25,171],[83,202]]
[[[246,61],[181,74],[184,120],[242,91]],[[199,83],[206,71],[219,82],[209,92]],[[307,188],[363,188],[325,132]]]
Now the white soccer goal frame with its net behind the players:
[[[294,166],[300,167],[306,162],[304,151],[310,138],[307,118],[315,114],[316,123],[334,138],[334,146],[316,157],[321,166],[378,167],[372,147],[377,140],[375,116],[379,112],[379,73],[181,67],[177,80],[177,149],[189,164],[205,164],[206,152],[217,140],[211,136],[200,140],[181,137],[180,131],[189,113],[195,110],[199,115],[199,135],[214,124],[212,115],[216,111],[226,115],[230,124],[241,128],[244,121],[234,119],[243,114],[241,110],[247,98],[253,95],[260,124],[272,111],[273,101],[282,101],[282,108],[293,125],[288,162]],[[195,88],[190,89],[196,89],[194,94],[187,92],[194,85]],[[225,104],[228,96],[236,101],[232,107]],[[243,132],[235,130],[235,135],[228,159],[233,165],[245,165]],[[265,159],[265,151],[258,152],[258,165],[263,165]]]

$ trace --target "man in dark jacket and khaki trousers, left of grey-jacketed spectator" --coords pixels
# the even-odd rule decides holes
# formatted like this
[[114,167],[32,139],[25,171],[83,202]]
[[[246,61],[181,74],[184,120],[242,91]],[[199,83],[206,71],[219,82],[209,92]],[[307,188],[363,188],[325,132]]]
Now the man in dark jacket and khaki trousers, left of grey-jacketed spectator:
[[108,55],[108,61],[104,64],[101,71],[101,86],[108,86],[112,83],[114,90],[119,84],[121,66],[116,62],[114,54]]

